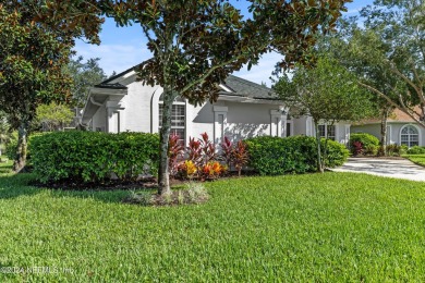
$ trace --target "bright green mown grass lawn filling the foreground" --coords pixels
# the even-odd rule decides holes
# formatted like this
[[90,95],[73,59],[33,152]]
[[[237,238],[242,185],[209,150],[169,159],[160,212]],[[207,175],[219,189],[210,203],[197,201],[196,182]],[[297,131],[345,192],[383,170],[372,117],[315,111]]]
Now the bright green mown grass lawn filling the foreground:
[[424,183],[244,177],[207,183],[207,204],[155,208],[1,170],[0,282],[425,281]]

